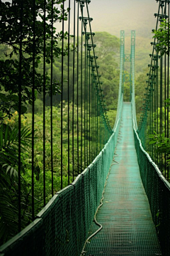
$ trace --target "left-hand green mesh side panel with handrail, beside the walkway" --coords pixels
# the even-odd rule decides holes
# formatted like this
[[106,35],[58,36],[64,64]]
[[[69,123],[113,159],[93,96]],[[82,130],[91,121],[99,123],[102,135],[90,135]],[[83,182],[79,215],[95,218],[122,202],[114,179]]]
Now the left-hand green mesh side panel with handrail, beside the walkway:
[[0,247],[4,256],[80,255],[113,161],[118,128],[103,150],[76,180],[59,191],[36,219]]

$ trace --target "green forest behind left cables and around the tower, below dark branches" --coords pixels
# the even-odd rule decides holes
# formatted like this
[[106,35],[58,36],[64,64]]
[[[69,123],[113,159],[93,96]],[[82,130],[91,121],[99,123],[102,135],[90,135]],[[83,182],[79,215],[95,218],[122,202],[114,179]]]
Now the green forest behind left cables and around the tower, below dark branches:
[[[70,38],[70,43],[72,45],[73,39]],[[128,46],[129,38],[126,39],[125,45]],[[114,125],[115,116],[116,116],[116,109],[118,103],[118,86],[119,86],[119,51],[120,51],[120,39],[116,36],[113,36],[107,32],[96,32],[94,36],[94,44],[96,44],[96,55],[98,56],[98,72],[101,75],[101,88],[105,95],[105,103],[106,109],[108,111],[108,118],[110,119],[111,127]],[[137,103],[137,114],[141,111],[142,105],[142,93],[144,92],[144,83],[145,83],[145,72],[143,72],[142,68],[145,67],[145,63],[147,63],[146,59],[146,50],[145,46],[147,43],[145,39],[141,38],[140,45],[137,46],[136,50],[136,103]],[[15,46],[14,46],[15,47]],[[59,41],[58,51],[60,53],[61,43]],[[53,160],[54,160],[54,188],[53,190],[59,191],[60,190],[60,171],[61,171],[61,156],[60,156],[60,142],[61,142],[61,118],[63,119],[63,127],[62,127],[62,141],[63,141],[63,155],[62,155],[62,164],[63,164],[63,177],[62,177],[62,184],[63,186],[67,186],[68,184],[68,176],[67,170],[70,168],[70,175],[72,174],[72,161],[70,161],[68,166],[68,159],[67,159],[67,141],[68,141],[68,126],[74,127],[74,130],[77,129],[76,120],[72,123],[71,119],[68,119],[68,107],[69,107],[69,114],[70,116],[76,115],[77,112],[81,112],[82,110],[80,107],[77,107],[77,102],[72,104],[73,96],[77,97],[77,92],[79,93],[80,88],[77,88],[77,92],[72,95],[73,92],[73,81],[81,80],[81,76],[75,77],[73,80],[73,58],[74,58],[74,67],[77,67],[78,70],[81,68],[77,65],[77,48],[70,47],[70,54],[69,54],[69,77],[68,77],[68,59],[67,59],[67,44],[65,44],[65,54],[63,58],[63,80],[64,83],[67,84],[69,80],[69,95],[67,92],[67,87],[63,87],[63,102],[62,102],[62,117],[61,117],[61,80],[62,80],[62,70],[61,70],[61,63],[62,58],[61,55],[58,54],[55,56],[55,61],[52,63],[53,74],[53,86],[52,86],[52,107],[53,107],[53,125],[55,126],[55,130],[53,131]],[[80,50],[80,49],[78,49]],[[127,47],[127,52],[128,47]],[[144,54],[145,53],[145,54]],[[148,50],[149,53],[149,50]],[[30,70],[30,63],[32,59],[30,59],[25,54],[25,66],[24,66],[24,75],[26,79],[26,87],[25,91],[22,94],[22,105],[21,105],[21,126],[22,126],[22,215],[23,215],[23,222],[22,226],[24,227],[28,223],[30,223],[30,215],[31,215],[31,131],[30,127],[32,124],[33,115],[33,101],[31,95],[31,78],[29,76]],[[84,58],[85,51],[83,50],[82,57]],[[1,225],[4,227],[4,233],[1,233],[0,241],[4,242],[8,239],[11,235],[15,233],[17,220],[17,180],[18,180],[18,155],[16,152],[18,140],[18,94],[17,94],[17,86],[15,81],[17,82],[17,75],[18,75],[18,50],[16,52],[12,52],[12,48],[1,44],[0,46],[0,58],[1,58],[1,65],[3,67],[3,72],[1,73],[1,110],[0,110],[0,117],[1,117],[1,134],[6,134],[6,138],[9,139],[8,143],[7,140],[4,138],[4,143],[6,143],[5,150],[7,150],[6,154],[10,157],[6,158],[3,156],[1,158],[1,169],[3,170],[3,174],[1,175],[1,180],[6,185],[6,198],[2,199],[11,205],[11,209],[6,208],[3,206],[3,211],[1,211]],[[35,122],[35,166],[33,169],[33,173],[35,176],[35,213],[43,206],[43,198],[42,198],[42,187],[43,187],[43,119],[46,118],[45,123],[45,176],[46,176],[46,192],[45,192],[45,201],[47,202],[51,195],[50,191],[52,190],[51,186],[51,166],[50,166],[50,157],[51,157],[51,147],[50,147],[50,103],[51,103],[51,92],[50,87],[48,87],[48,81],[51,80],[51,73],[50,73],[50,65],[51,63],[47,60],[45,65],[45,76],[47,80],[47,86],[45,93],[42,92],[42,70],[43,70],[43,61],[40,55],[36,59],[36,90],[35,90],[35,107],[34,107],[34,122]],[[84,71],[83,71],[84,72]],[[4,74],[6,74],[4,76]],[[81,84],[81,82],[79,82]],[[13,85],[13,87],[11,87]],[[130,88],[128,85],[126,86],[125,91],[125,100],[129,99],[128,95],[130,92]],[[79,93],[80,95],[80,93]],[[43,98],[45,97],[45,98]],[[45,110],[43,109],[43,102],[45,102]],[[84,105],[84,100],[82,101]],[[84,111],[81,112],[84,116]],[[86,118],[89,119],[91,122],[90,114],[86,115]],[[78,119],[78,122],[80,120]],[[84,135],[84,129],[82,129],[82,133]],[[11,134],[11,135],[10,135]],[[4,136],[3,135],[3,136]],[[75,147],[78,146],[80,143],[79,138],[77,138],[74,133],[69,134],[70,138],[70,145],[69,150],[70,154],[72,154],[72,145],[74,144]],[[89,134],[89,141],[91,140],[91,136]],[[78,142],[79,141],[79,142]],[[82,142],[81,142],[82,143]],[[84,142],[83,142],[84,143]],[[82,152],[84,155],[84,151]],[[14,155],[14,158],[13,158]],[[82,158],[84,163],[84,158]],[[76,170],[79,169],[79,163],[77,159],[74,159],[74,167]],[[77,172],[74,174],[77,175]],[[3,187],[0,189],[4,189]],[[11,189],[14,191],[11,197]],[[2,193],[3,195],[3,193]],[[7,213],[7,215],[4,215]],[[14,218],[14,222],[8,227],[6,231],[6,224],[4,223],[11,223],[11,220]],[[2,236],[4,238],[2,239]]]

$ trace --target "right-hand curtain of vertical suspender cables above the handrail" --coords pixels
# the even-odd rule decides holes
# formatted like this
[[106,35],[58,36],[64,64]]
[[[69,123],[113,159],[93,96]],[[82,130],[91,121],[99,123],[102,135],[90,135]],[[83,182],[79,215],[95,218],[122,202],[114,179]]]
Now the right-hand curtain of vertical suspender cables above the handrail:
[[169,181],[169,1],[157,1],[156,28],[138,125],[144,149]]

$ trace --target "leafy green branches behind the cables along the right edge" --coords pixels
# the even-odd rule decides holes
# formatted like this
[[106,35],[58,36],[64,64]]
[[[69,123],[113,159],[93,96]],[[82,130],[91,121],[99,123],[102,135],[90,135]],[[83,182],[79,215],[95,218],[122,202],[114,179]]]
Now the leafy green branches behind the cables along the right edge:
[[[169,22],[166,21],[165,18],[162,19],[159,28],[157,31],[153,31],[152,33],[154,34],[153,38],[157,40],[157,44],[155,46],[155,49],[159,55],[162,57],[168,55],[169,59]],[[169,67],[169,65],[168,65]],[[166,67],[163,70],[164,76],[162,78],[162,84],[164,85],[163,87],[163,93],[166,95]],[[169,74],[169,73],[168,73]],[[168,78],[169,79],[169,78]],[[160,97],[160,95],[159,95]],[[167,93],[167,97],[169,97],[169,94]],[[169,143],[169,107],[170,107],[170,99],[169,98],[164,98],[164,104],[162,106],[162,120],[159,121],[159,127],[160,127],[160,122],[162,122],[162,127],[163,131],[161,132],[160,129],[159,131],[155,132],[153,134],[149,134],[150,142],[149,144],[155,144],[157,146],[157,153],[162,154],[162,173],[164,174],[165,177],[169,178],[169,168],[166,169],[166,166],[169,166],[170,163],[170,143]],[[160,114],[161,109],[160,107],[158,108],[158,114]],[[156,115],[156,114],[155,114]],[[167,117],[166,117],[167,116]],[[167,120],[166,120],[167,119]],[[167,124],[168,123],[168,124]],[[168,136],[167,136],[168,135]],[[159,161],[158,163],[159,164]],[[167,174],[168,173],[168,174]],[[169,178],[170,180],[170,178]]]

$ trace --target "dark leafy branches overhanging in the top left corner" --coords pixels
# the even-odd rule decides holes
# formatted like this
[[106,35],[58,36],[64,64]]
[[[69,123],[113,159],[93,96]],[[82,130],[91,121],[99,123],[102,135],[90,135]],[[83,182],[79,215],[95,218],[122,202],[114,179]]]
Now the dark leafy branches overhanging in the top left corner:
[[[67,21],[69,12],[63,8],[62,1],[53,1],[53,5],[52,9],[52,0],[47,0],[45,6],[42,0],[35,1],[35,6],[30,0],[11,3],[0,0],[0,43],[5,46],[4,58],[0,59],[0,119],[4,113],[10,117],[11,109],[18,111],[19,85],[22,114],[27,110],[25,103],[32,104],[35,100],[33,85],[35,92],[42,92],[44,83],[45,93],[51,91],[50,75],[38,72],[37,68],[42,60],[50,64],[62,54],[67,55],[68,47],[62,50],[60,41],[66,39],[68,33],[57,31],[54,24],[63,19]],[[60,82],[53,80],[52,93],[58,92]]]

